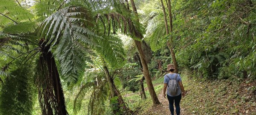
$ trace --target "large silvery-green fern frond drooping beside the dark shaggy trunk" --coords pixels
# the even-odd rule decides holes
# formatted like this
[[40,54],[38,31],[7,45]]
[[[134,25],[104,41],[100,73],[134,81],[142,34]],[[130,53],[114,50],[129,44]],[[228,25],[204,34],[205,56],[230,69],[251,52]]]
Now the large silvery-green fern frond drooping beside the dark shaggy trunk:
[[95,53],[89,47],[96,46],[93,39],[101,38],[92,32],[93,20],[90,10],[84,7],[66,7],[56,11],[38,28],[39,37],[45,38],[50,50],[60,62],[61,75],[67,84],[76,82],[86,62]]

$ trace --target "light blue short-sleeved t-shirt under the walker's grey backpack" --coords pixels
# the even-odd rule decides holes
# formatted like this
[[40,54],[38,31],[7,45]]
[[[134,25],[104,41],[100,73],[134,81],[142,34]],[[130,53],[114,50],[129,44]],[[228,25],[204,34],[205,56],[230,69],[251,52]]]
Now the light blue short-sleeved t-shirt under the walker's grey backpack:
[[[168,85],[170,79],[167,76],[169,78],[171,78],[171,79],[174,79],[175,78],[175,74],[166,74],[166,75],[164,75],[163,83],[167,83],[167,85]],[[176,80],[177,80],[177,83],[179,83],[179,81],[181,81],[180,74],[178,74]],[[167,95],[172,96],[172,97],[180,95],[181,94],[181,90],[180,90],[180,85],[179,84],[178,84],[177,89],[178,89],[177,95],[171,95],[171,94],[169,94],[169,90],[167,88]]]

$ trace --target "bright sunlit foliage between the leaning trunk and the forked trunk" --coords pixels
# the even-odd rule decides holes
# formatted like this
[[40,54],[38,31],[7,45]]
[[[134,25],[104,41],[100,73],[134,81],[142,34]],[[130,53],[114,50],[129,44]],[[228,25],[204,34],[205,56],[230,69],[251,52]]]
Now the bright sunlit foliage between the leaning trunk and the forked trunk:
[[150,43],[151,49],[155,52],[166,46],[166,30],[164,25],[163,10],[159,0],[141,3],[143,10],[143,24],[146,25],[145,40]]

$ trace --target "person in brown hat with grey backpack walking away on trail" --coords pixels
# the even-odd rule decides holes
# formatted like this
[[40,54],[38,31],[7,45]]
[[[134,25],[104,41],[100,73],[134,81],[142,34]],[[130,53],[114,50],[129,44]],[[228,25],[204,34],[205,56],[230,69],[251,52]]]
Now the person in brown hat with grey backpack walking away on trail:
[[180,115],[180,100],[181,95],[185,96],[185,90],[181,82],[180,74],[174,73],[175,68],[173,64],[167,65],[167,74],[164,75],[163,80],[163,97],[166,98],[167,89],[167,99],[169,101],[169,109],[171,114],[174,115],[174,106],[176,108],[176,114]]

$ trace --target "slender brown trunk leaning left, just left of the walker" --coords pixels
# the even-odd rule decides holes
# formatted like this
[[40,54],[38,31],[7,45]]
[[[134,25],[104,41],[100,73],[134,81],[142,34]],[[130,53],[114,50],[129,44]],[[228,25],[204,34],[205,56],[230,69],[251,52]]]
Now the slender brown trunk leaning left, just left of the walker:
[[[135,15],[136,15],[136,18],[137,18],[137,23],[140,23],[138,13],[137,13],[137,9],[136,9],[136,6],[134,4],[134,0],[131,0],[131,6],[133,8],[133,11],[135,12]],[[151,96],[153,105],[160,104],[160,101],[157,98],[157,94],[154,91],[154,86],[152,84],[151,77],[150,77],[150,74],[149,74],[149,71],[148,71],[148,64],[145,60],[145,54],[142,50],[141,42],[138,41],[138,40],[134,40],[134,43],[136,44],[136,47],[137,47],[137,49],[139,51],[139,54],[140,54],[140,60],[141,60],[142,66],[143,66],[143,75],[144,75],[146,83],[148,85],[148,91],[149,91],[149,94]]]

